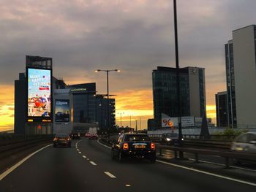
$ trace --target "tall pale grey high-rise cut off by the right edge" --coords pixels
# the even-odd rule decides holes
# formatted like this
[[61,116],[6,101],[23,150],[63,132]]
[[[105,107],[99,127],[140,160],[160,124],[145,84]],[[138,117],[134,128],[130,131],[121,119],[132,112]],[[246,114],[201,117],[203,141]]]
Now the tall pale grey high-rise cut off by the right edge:
[[233,39],[225,45],[227,101],[230,126],[256,127],[256,26],[233,31]]

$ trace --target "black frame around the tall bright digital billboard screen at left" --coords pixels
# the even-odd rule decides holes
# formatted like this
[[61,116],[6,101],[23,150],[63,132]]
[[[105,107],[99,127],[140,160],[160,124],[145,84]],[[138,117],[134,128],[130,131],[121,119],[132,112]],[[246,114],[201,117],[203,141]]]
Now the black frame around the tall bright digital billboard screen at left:
[[[50,71],[50,117],[34,117],[29,116],[29,69],[39,69],[39,70],[48,70]],[[34,67],[34,66],[26,66],[26,122],[44,122],[44,123],[52,123],[53,122],[53,69],[44,68],[44,67]]]

